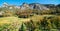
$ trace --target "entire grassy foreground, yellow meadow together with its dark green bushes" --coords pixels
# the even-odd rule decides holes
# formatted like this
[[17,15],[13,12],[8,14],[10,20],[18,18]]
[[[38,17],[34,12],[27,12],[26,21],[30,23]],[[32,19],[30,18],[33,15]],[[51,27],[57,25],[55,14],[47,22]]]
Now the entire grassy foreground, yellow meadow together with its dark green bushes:
[[0,18],[0,31],[59,31],[59,15],[34,15],[29,18],[15,16]]

